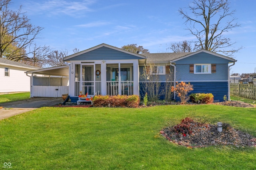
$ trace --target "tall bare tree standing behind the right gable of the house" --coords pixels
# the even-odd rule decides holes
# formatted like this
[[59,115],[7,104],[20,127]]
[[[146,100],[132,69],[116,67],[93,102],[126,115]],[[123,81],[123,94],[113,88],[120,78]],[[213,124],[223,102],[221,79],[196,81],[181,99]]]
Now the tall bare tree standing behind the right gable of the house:
[[230,10],[229,4],[228,0],[194,0],[188,6],[191,15],[179,9],[186,20],[187,29],[196,36],[196,50],[206,49],[231,56],[242,48],[233,49],[234,43],[223,35],[240,26],[235,22],[236,18],[232,17],[235,10]]

